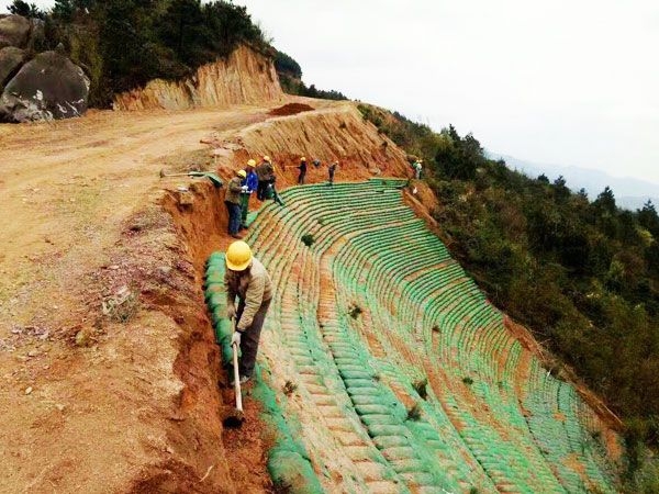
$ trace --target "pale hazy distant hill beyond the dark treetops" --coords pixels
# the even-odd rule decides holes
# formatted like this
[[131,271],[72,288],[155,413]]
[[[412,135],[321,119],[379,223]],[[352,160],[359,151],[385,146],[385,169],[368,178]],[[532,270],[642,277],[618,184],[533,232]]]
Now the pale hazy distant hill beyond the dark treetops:
[[619,207],[637,210],[650,199],[654,204],[659,204],[659,183],[652,183],[632,177],[613,177],[600,170],[588,168],[566,167],[561,165],[538,164],[524,161],[507,155],[499,155],[488,151],[492,159],[503,159],[509,168],[522,171],[530,178],[545,173],[551,181],[563,176],[567,186],[574,192],[583,188],[591,200],[608,186],[614,194],[615,202]]

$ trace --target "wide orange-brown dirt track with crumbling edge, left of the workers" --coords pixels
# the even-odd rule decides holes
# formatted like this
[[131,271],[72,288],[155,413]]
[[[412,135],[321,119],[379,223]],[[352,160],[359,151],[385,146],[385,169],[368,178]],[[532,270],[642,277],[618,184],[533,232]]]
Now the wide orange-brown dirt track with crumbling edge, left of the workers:
[[[157,206],[178,181],[158,172],[270,110],[0,126],[0,492],[234,491],[204,416],[221,404],[203,305],[188,303],[199,280]],[[103,314],[126,295],[139,303]],[[244,483],[266,484],[258,470]]]

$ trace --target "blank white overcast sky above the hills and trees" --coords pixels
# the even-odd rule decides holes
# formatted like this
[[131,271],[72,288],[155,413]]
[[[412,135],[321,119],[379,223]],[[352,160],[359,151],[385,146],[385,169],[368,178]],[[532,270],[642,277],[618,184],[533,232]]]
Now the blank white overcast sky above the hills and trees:
[[659,183],[659,2],[234,3],[308,85],[453,123],[495,153]]

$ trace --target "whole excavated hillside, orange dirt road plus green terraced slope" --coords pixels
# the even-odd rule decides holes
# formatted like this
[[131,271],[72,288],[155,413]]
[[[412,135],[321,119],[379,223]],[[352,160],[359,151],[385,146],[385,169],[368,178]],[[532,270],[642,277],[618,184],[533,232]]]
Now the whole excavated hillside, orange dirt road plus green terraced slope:
[[[1,490],[615,492],[619,422],[449,255],[405,151],[246,49],[123,111],[0,125]],[[204,293],[223,192],[159,172],[226,180],[265,154],[287,205],[254,201],[248,242],[276,296],[231,430]],[[301,155],[342,183],[291,187]]]

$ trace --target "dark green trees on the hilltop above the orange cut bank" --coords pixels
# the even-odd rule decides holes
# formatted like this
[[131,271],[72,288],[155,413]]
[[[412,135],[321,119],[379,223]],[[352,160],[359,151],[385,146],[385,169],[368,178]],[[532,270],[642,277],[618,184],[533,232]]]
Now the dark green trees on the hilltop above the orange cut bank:
[[155,78],[179,79],[241,43],[273,56],[245,7],[201,0],[56,0],[47,12],[14,0],[11,12],[45,20],[45,46],[62,44],[91,80],[90,104]]

